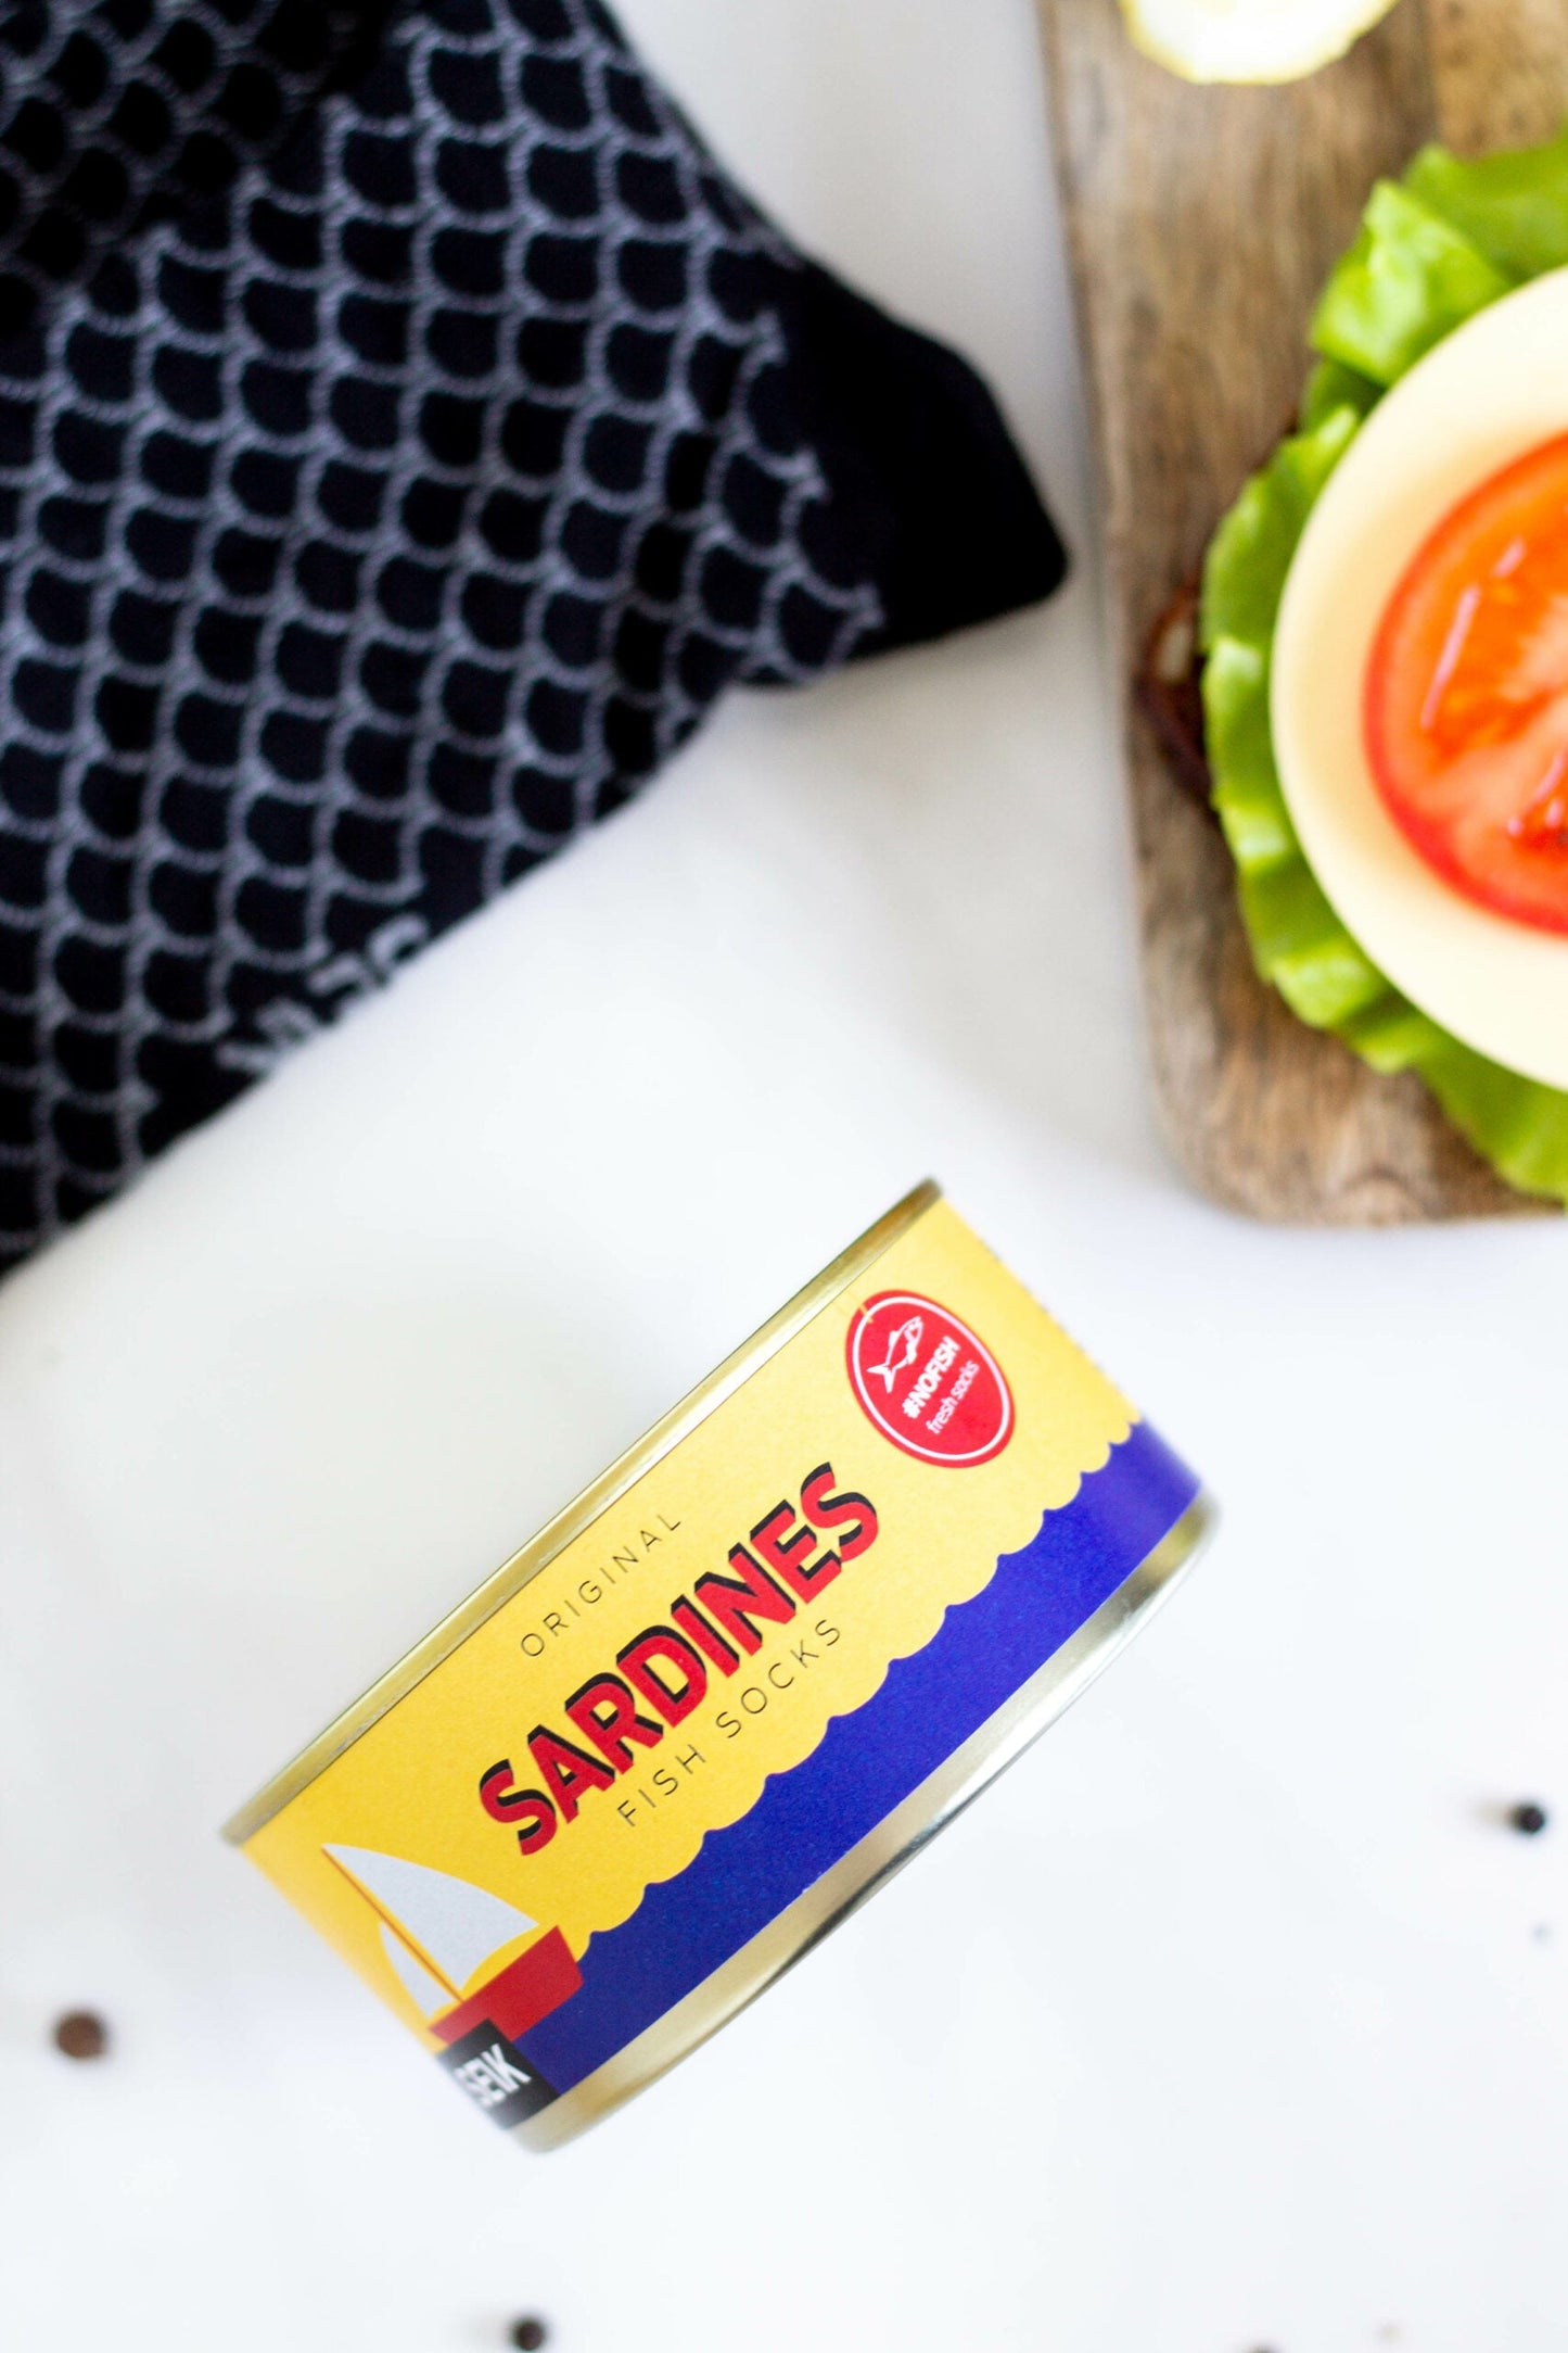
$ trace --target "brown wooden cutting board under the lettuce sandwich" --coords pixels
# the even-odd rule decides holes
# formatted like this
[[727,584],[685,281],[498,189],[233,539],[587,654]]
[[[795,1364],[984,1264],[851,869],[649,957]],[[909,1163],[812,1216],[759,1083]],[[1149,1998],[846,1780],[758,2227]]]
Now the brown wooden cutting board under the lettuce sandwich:
[[1284,89],[1197,89],[1128,42],[1117,0],[1041,0],[1056,160],[1100,452],[1154,1085],[1190,1176],[1298,1224],[1533,1214],[1408,1075],[1378,1078],[1253,974],[1211,819],[1131,680],[1241,480],[1286,428],[1305,329],[1380,172],[1568,113],[1568,0],[1399,0]]

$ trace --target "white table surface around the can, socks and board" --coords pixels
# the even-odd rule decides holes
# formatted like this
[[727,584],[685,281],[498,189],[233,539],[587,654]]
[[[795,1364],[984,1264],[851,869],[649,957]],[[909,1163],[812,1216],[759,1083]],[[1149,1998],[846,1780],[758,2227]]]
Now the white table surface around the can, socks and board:
[[[1561,2353],[1568,1238],[1274,1233],[1161,1158],[1030,0],[625,16],[990,369],[1077,581],[729,701],[0,1292],[0,2344]],[[926,1169],[1222,1539],[842,1934],[527,2158],[216,1824]],[[75,2002],[106,2064],[49,2047]]]

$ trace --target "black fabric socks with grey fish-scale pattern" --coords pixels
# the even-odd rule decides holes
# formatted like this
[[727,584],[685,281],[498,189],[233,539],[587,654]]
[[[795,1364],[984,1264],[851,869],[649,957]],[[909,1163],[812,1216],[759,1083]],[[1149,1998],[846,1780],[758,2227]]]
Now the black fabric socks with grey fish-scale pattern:
[[1063,558],[595,0],[28,5],[0,71],[5,1266],[729,680]]

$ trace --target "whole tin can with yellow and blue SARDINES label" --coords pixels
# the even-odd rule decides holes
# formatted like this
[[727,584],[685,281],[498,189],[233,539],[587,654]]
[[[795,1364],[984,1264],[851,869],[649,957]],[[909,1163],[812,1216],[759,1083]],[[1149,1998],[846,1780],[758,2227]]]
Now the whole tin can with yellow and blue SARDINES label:
[[926,1184],[226,1835],[550,2148],[999,1774],[1208,1518]]

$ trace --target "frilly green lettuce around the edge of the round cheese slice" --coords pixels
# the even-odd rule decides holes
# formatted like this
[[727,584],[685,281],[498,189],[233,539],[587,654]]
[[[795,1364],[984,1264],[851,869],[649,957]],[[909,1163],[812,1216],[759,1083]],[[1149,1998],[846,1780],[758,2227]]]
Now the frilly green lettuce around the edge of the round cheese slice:
[[1429,1021],[1361,953],[1312,873],[1274,765],[1269,656],[1286,572],[1324,482],[1382,391],[1509,287],[1568,264],[1568,127],[1460,162],[1425,148],[1378,181],[1312,320],[1300,431],[1244,485],[1204,562],[1204,725],[1253,962],[1312,1028],[1375,1071],[1415,1071],[1523,1193],[1568,1202],[1568,1094]]

